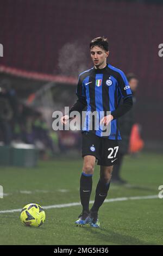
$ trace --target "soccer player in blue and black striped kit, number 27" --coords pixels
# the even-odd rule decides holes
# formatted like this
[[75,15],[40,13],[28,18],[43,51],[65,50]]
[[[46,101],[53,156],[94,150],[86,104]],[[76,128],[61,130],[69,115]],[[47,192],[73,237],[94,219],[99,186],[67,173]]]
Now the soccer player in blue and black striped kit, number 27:
[[[121,117],[132,107],[132,93],[126,76],[120,70],[106,62],[109,56],[108,40],[98,37],[90,43],[90,55],[93,68],[79,75],[78,100],[70,109],[69,114],[61,118],[62,124],[67,124],[72,111],[86,111],[82,126],[82,156],[83,172],[80,177],[80,200],[83,206],[82,214],[75,223],[83,226],[99,228],[98,210],[103,204],[110,187],[113,165],[118,160],[118,140],[121,139],[118,130],[118,117]],[[120,105],[120,100],[123,104]],[[99,120],[103,126],[111,125],[110,135],[103,136],[103,130],[90,129],[90,112],[104,113]],[[109,112],[109,114],[108,114]],[[94,120],[94,125],[95,125]],[[92,175],[96,160],[100,166],[99,181],[96,187],[95,202],[89,210],[92,191]]]

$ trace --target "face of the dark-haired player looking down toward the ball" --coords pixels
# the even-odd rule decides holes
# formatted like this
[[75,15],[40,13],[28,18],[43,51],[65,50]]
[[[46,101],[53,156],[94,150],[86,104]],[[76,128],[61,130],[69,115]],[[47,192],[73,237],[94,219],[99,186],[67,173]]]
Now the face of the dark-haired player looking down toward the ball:
[[95,68],[97,69],[104,68],[106,65],[106,58],[109,55],[109,51],[106,52],[99,46],[93,46],[90,52],[91,52],[92,62]]

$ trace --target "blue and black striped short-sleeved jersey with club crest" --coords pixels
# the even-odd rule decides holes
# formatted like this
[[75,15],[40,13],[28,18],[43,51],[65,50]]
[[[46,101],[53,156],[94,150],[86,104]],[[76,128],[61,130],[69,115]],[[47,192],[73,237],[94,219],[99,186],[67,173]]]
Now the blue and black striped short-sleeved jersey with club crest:
[[[104,69],[86,70],[79,75],[76,94],[79,100],[86,101],[85,111],[114,113],[121,99],[132,96],[129,83],[123,71],[107,64]],[[85,118],[83,131],[90,131],[89,118]],[[93,131],[102,137],[102,130]],[[118,130],[118,120],[111,121],[111,133],[109,139],[121,139]]]

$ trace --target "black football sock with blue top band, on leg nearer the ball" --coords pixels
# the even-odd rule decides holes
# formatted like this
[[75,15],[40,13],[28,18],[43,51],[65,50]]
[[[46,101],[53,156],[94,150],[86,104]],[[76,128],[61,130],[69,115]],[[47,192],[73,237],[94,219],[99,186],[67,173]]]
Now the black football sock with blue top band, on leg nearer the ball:
[[89,203],[92,191],[92,174],[82,173],[80,178],[80,200],[83,211],[89,213]]

